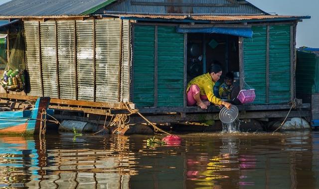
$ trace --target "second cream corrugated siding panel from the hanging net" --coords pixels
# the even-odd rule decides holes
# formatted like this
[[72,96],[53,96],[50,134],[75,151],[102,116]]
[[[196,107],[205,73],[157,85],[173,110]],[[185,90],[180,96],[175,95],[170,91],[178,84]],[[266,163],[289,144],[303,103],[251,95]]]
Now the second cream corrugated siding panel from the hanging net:
[[40,22],[41,61],[44,96],[58,98],[55,21]]

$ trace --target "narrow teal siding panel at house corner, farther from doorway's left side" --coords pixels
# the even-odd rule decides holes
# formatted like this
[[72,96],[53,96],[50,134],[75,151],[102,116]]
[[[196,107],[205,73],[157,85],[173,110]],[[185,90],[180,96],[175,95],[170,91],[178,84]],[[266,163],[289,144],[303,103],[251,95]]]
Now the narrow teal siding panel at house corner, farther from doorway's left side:
[[154,106],[155,26],[134,26],[133,102]]

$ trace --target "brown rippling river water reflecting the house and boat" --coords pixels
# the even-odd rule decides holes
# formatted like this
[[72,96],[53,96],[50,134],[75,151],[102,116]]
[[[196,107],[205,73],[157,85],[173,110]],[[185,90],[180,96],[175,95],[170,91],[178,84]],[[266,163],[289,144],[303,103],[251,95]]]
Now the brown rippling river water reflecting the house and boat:
[[[164,135],[156,135],[162,138]],[[0,136],[1,188],[318,189],[319,132]]]

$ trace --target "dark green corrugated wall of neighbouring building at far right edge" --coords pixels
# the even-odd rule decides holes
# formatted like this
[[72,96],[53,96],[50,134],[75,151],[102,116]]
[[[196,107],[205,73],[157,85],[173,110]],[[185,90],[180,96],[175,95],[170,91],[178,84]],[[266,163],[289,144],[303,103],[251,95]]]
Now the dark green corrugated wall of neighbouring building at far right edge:
[[299,94],[319,93],[319,57],[297,51],[296,91]]

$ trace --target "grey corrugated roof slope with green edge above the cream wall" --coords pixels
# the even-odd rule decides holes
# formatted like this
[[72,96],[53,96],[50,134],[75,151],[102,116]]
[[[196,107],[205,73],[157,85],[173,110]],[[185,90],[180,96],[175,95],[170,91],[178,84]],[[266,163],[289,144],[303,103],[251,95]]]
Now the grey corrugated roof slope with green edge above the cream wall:
[[11,0],[0,5],[0,16],[88,15],[116,0]]

